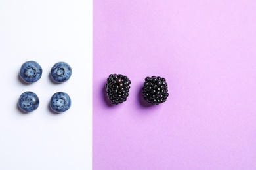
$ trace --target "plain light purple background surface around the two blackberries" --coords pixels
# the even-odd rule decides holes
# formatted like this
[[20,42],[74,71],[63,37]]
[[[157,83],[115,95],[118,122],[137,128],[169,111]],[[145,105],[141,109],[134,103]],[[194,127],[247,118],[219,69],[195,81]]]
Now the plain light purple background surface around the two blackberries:
[[[256,1],[93,1],[93,169],[256,169]],[[110,73],[131,79],[110,106]],[[167,102],[140,101],[163,76]]]

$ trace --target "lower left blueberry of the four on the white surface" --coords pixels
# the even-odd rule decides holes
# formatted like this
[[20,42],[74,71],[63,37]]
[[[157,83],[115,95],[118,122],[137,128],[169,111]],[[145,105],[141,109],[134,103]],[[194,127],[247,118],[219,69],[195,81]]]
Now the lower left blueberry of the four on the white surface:
[[32,112],[39,107],[39,98],[33,92],[24,92],[18,99],[18,106],[24,112]]

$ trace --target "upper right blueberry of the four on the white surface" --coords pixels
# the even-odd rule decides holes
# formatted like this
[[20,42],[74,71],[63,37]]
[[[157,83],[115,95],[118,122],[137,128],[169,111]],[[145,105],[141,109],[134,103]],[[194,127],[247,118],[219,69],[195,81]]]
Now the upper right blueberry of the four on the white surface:
[[58,62],[53,65],[51,69],[51,77],[54,82],[62,83],[68,81],[72,75],[72,69],[70,65],[64,62]]

